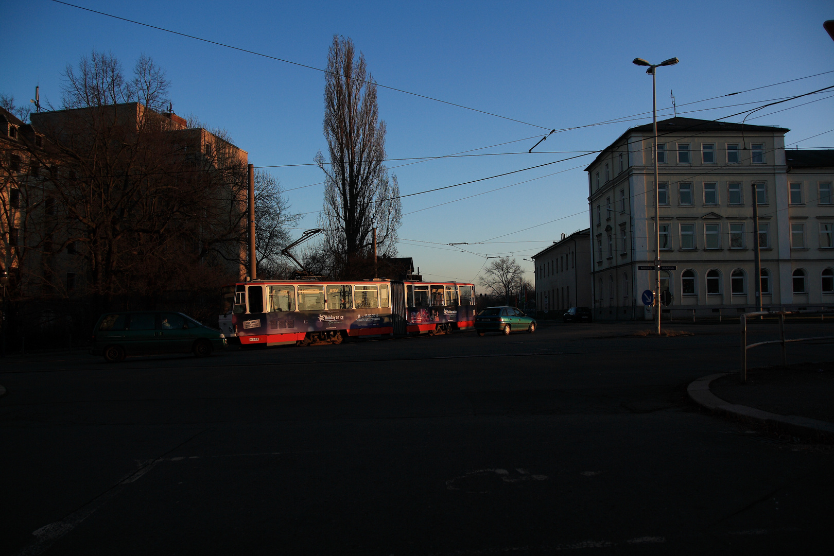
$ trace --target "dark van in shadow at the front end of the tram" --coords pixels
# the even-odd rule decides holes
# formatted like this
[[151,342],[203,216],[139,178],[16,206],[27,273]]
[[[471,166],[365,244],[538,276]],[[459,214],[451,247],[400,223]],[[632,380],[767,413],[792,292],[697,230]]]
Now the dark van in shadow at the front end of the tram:
[[226,347],[226,337],[183,313],[128,311],[104,313],[93,328],[91,355],[118,363],[128,355],[193,353],[206,357]]

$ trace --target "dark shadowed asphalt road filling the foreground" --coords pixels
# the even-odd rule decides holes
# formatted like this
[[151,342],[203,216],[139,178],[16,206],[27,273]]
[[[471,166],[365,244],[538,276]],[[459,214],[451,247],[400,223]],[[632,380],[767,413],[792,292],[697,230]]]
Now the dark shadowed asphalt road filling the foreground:
[[686,396],[737,324],[641,328],[0,360],[0,554],[827,553],[834,449]]

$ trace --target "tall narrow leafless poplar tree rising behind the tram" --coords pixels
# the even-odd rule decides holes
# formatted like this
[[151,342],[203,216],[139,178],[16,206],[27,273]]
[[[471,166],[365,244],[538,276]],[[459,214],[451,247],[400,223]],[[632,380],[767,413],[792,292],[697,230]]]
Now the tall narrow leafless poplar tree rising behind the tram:
[[396,256],[402,219],[396,176],[385,168],[385,123],[379,120],[376,83],[364,56],[355,57],[349,38],[334,36],[324,87],[324,138],[329,161],[315,161],[325,175],[324,248],[333,258],[334,275],[364,278],[368,273],[372,231],[379,254]]

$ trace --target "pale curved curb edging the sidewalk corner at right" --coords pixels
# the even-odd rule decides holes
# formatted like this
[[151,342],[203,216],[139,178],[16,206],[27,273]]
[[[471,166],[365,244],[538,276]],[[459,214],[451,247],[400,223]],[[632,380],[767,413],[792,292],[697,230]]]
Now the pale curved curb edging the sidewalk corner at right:
[[762,411],[761,409],[749,408],[746,405],[726,402],[714,393],[711,393],[710,383],[716,378],[726,377],[728,374],[733,373],[716,373],[703,378],[698,378],[686,387],[686,393],[689,394],[692,401],[715,413],[726,413],[751,421],[759,421],[761,423],[777,425],[783,428],[791,428],[799,433],[834,436],[834,423],[828,423],[827,421],[820,421],[818,419],[798,417],[796,415],[779,415],[777,413],[769,413]]

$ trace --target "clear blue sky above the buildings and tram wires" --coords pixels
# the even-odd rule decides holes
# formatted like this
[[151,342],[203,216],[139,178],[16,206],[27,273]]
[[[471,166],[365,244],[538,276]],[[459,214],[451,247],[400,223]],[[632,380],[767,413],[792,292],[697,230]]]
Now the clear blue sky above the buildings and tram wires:
[[[388,166],[404,194],[605,148],[625,129],[651,121],[651,78],[631,64],[636,57],[653,63],[681,60],[658,70],[658,107],[665,109],[664,117],[671,113],[666,110],[670,90],[679,115],[714,119],[834,84],[834,73],[827,73],[696,103],[834,70],[834,41],[822,28],[823,21],[834,18],[830,2],[76,3],[315,68],[324,68],[333,35],[344,35],[364,53],[380,84],[548,129],[638,115],[628,122],[555,133],[537,153],[528,154],[544,129],[379,88],[389,158],[520,153],[392,160]],[[18,102],[33,98],[40,84],[42,103],[58,105],[63,68],[93,48],[112,51],[128,70],[146,53],[173,82],[174,110],[228,129],[255,166],[311,164],[319,149],[325,150],[323,73],[49,0],[3,5],[7,25],[0,35],[0,92]],[[747,121],[790,128],[786,143],[824,133],[799,146],[831,148],[831,94],[765,109],[754,115],[763,117]],[[809,101],[816,102],[797,106]],[[750,104],[728,106],[740,103]],[[508,144],[483,149],[499,143]],[[532,271],[523,258],[560,233],[587,227],[582,169],[592,159],[405,198],[399,254],[413,257],[430,279],[470,281],[487,263],[485,257],[496,255],[512,255]],[[279,178],[294,212],[306,213],[299,228],[316,227],[322,186],[312,184],[323,179],[319,168],[269,171]],[[495,188],[504,189],[449,203]],[[538,224],[544,225],[515,233]],[[490,243],[460,246],[472,253],[447,245],[460,242]]]

